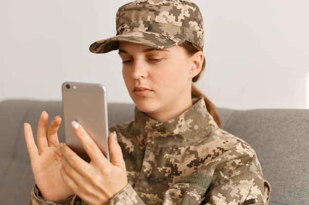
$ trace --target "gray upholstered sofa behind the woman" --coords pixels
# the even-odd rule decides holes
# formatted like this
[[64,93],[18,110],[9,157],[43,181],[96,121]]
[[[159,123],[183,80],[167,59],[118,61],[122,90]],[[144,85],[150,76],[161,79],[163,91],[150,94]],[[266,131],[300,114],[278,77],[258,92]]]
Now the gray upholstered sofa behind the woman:
[[[42,111],[62,115],[60,101],[0,102],[0,205],[25,205],[34,185],[23,135],[28,122],[37,132]],[[132,104],[109,104],[110,124],[133,118]],[[270,205],[309,205],[309,110],[218,109],[222,128],[256,150],[272,191]],[[59,130],[64,142],[64,128]]]

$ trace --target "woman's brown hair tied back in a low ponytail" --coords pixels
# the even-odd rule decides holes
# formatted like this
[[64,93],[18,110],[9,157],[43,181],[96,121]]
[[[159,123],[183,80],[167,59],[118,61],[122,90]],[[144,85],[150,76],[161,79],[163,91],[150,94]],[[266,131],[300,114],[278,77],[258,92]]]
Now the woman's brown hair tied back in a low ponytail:
[[[195,54],[198,51],[203,51],[202,48],[200,48],[199,46],[195,45],[194,43],[191,43],[189,41],[185,41],[182,44],[179,44],[179,46],[183,47],[187,53],[189,54],[189,56],[193,56],[193,54]],[[203,60],[203,64],[202,64],[202,69],[201,71],[192,79],[192,82],[195,83],[202,71],[205,69],[206,66],[206,60],[204,58]],[[219,114],[216,111],[216,107],[215,105],[201,92],[199,91],[194,84],[192,83],[192,88],[191,88],[191,96],[192,98],[194,97],[202,97],[204,98],[205,104],[206,104],[206,108],[207,111],[209,112],[209,114],[214,118],[215,122],[218,124],[219,127],[221,127],[221,119],[219,117]]]

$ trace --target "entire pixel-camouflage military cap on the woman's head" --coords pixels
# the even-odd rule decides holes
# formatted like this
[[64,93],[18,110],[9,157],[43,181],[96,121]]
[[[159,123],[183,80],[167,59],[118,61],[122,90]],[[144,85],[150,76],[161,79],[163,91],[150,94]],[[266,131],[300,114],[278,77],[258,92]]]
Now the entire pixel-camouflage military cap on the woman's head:
[[169,48],[189,41],[203,48],[204,26],[199,8],[190,0],[135,0],[116,14],[116,36],[90,46],[92,53],[118,49],[119,41]]

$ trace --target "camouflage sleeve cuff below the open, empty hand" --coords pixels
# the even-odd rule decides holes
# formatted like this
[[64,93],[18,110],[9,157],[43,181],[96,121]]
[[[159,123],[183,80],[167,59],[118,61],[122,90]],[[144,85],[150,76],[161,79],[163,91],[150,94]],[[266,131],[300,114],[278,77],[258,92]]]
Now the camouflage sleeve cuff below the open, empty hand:
[[73,205],[76,195],[71,196],[70,198],[61,201],[61,202],[50,202],[45,198],[40,196],[39,189],[37,185],[34,185],[31,191],[31,198],[29,205]]

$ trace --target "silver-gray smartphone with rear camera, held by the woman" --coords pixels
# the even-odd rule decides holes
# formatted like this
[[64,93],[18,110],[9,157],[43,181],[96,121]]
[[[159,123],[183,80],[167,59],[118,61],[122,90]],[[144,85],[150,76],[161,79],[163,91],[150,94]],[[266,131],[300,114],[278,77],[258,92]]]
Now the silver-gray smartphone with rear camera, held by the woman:
[[79,122],[110,160],[106,88],[101,84],[64,82],[62,103],[66,144],[82,159],[90,158],[75,135],[71,122]]

